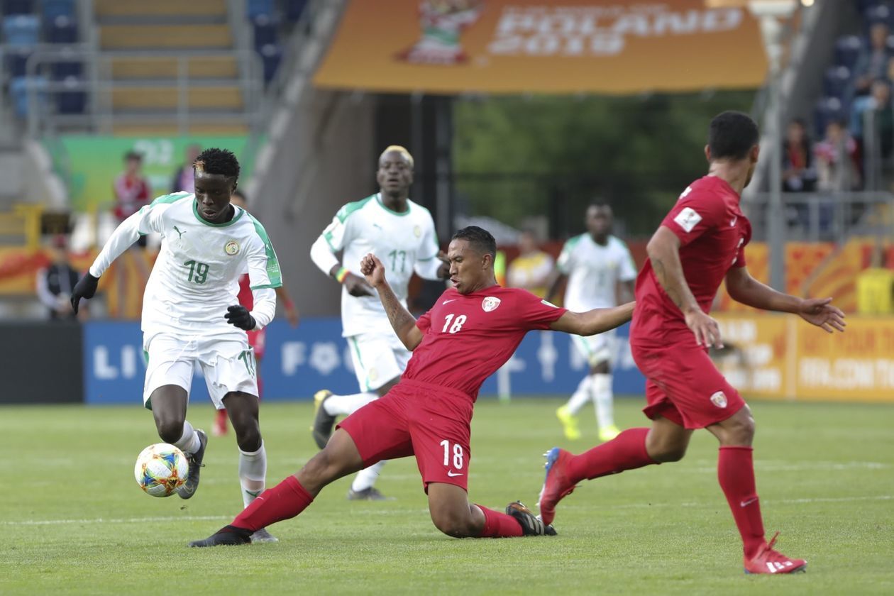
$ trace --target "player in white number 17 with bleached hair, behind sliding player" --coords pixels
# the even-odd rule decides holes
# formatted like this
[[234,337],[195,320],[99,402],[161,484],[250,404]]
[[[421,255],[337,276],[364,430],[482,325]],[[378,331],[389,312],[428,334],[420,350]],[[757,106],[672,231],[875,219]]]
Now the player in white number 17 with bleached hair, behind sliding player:
[[[360,386],[360,392],[352,395],[316,392],[316,416],[310,430],[320,449],[332,435],[335,418],[348,416],[387,393],[400,380],[411,356],[394,334],[375,290],[355,273],[360,260],[372,253],[389,265],[388,282],[404,307],[414,271],[426,280],[449,275],[432,214],[409,200],[413,183],[409,151],[396,145],[385,148],[375,180],[379,192],[342,206],[310,248],[316,266],[342,284],[342,335],[348,340]],[[340,251],[341,262],[335,256]],[[385,499],[374,486],[382,466],[384,462],[379,462],[361,470],[351,483],[348,499]]]

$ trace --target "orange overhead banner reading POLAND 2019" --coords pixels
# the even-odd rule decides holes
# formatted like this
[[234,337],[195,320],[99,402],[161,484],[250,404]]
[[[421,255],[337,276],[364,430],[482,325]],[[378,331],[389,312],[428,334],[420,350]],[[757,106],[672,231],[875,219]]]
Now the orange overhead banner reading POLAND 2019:
[[755,19],[704,0],[352,0],[314,82],[435,94],[756,88]]

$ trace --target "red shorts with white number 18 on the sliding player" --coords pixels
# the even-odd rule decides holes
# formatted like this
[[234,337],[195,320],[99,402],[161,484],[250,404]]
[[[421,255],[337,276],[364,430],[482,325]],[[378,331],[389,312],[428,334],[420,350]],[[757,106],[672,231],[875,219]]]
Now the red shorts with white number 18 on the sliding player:
[[446,483],[468,491],[472,399],[458,390],[401,380],[382,398],[342,420],[363,466],[416,456],[423,488]]

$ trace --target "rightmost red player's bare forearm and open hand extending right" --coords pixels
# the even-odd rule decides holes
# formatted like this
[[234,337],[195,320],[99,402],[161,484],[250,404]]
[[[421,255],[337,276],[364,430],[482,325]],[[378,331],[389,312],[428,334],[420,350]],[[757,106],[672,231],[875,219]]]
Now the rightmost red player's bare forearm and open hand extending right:
[[726,275],[727,291],[730,298],[748,306],[779,313],[800,315],[807,323],[816,325],[826,332],[843,332],[845,315],[837,306],[832,306],[831,298],[797,298],[773,290],[755,280],[746,267],[733,267]]

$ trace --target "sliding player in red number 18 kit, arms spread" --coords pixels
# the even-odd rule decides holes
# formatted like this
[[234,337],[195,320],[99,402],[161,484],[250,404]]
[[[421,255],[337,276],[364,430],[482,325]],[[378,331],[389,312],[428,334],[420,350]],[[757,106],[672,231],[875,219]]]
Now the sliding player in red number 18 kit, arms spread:
[[481,383],[509,360],[525,333],[536,329],[593,335],[625,323],[633,303],[573,313],[527,290],[501,288],[493,275],[496,243],[470,226],[448,248],[454,288],[413,318],[394,295],[373,255],[360,271],[403,344],[413,352],[392,390],[338,425],[325,449],[298,474],[263,492],[231,525],[190,546],[246,544],[253,532],[297,516],[326,484],[382,459],[415,456],[434,525],[455,537],[552,535],[524,505],[506,513],[468,502],[469,423]]

